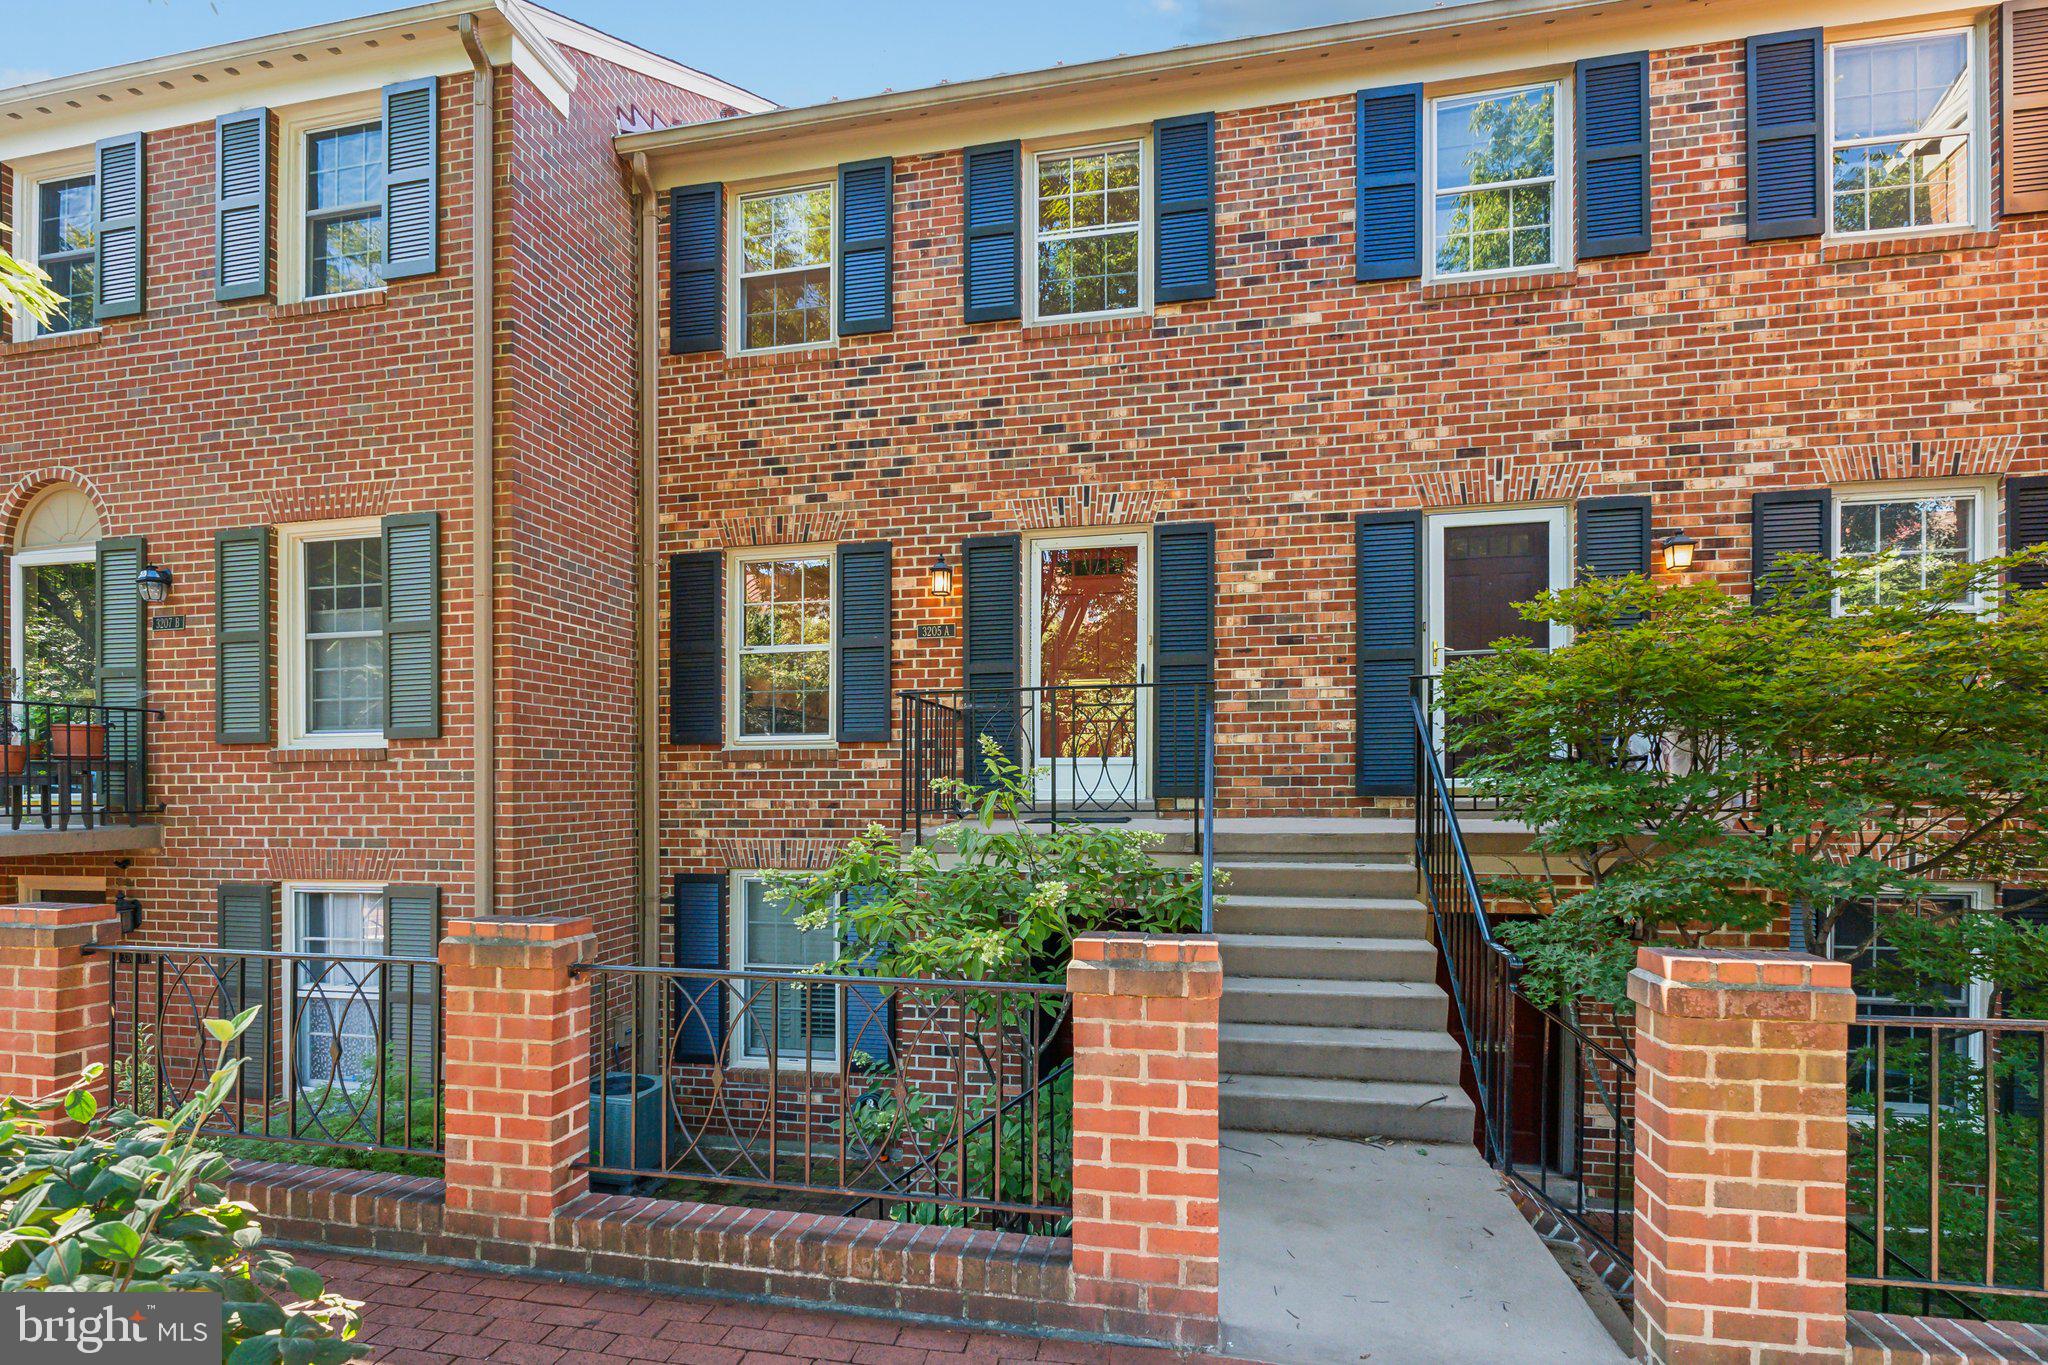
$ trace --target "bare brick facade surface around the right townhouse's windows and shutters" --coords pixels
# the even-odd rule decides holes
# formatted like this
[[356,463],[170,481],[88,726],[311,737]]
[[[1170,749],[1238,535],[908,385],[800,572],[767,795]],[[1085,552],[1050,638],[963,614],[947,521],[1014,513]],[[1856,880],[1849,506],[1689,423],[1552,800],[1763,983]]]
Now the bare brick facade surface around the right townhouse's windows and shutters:
[[[1737,585],[1755,489],[2048,469],[2040,217],[1751,246],[1741,43],[1651,102],[1651,254],[1430,287],[1352,278],[1350,98],[1219,113],[1217,299],[1110,323],[961,323],[958,149],[897,158],[893,332],[664,356],[662,551],[887,538],[893,686],[948,688],[963,536],[1212,520],[1221,808],[1348,814],[1358,512],[1651,493]],[[668,870],[895,802],[889,745],[670,747]]]

